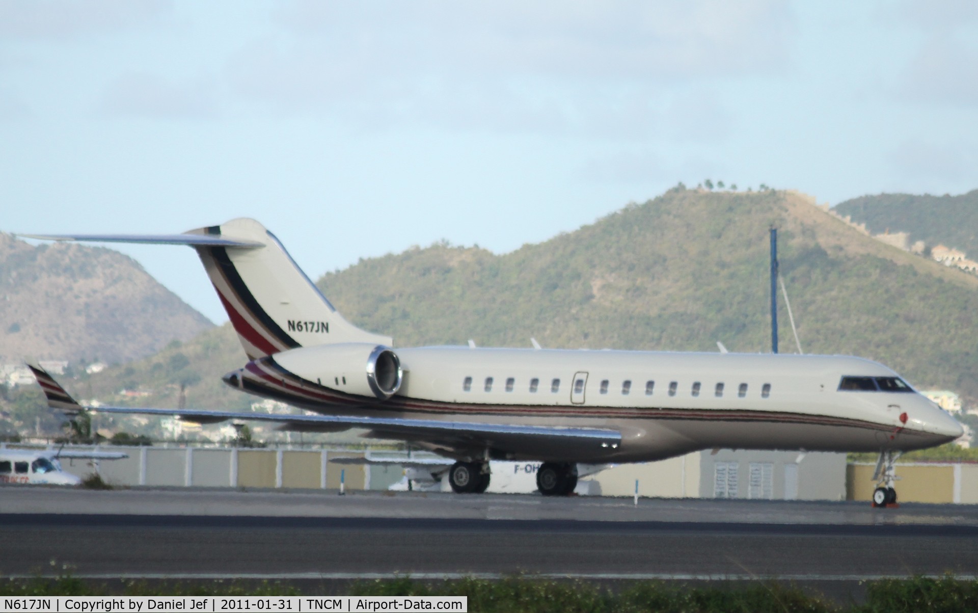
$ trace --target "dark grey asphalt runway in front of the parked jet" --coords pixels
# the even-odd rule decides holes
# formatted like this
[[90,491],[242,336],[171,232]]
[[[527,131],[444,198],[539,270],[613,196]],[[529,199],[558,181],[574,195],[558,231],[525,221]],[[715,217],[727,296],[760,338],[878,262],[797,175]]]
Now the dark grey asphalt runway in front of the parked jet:
[[3,576],[971,577],[978,508],[5,487],[0,551]]

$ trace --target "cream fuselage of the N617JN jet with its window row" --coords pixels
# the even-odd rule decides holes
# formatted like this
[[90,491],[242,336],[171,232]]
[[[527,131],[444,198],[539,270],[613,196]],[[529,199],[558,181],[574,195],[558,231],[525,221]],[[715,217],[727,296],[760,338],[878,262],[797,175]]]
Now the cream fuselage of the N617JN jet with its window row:
[[848,356],[407,348],[396,350],[403,384],[378,400],[344,391],[354,372],[324,377],[318,354],[325,351],[305,347],[254,361],[241,371],[242,387],[329,415],[622,433],[619,446],[576,458],[534,449],[499,455],[511,460],[643,461],[710,448],[877,452],[931,447],[961,433],[953,417],[911,389],[839,390],[843,376],[899,376]]

